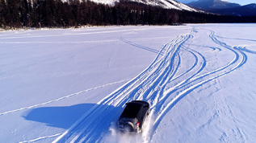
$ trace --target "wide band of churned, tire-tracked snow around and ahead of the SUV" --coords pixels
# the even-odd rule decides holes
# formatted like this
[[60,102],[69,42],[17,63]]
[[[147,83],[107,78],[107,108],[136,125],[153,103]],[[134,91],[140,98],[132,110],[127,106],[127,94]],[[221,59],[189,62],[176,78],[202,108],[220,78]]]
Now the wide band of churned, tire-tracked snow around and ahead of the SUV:
[[[208,36],[202,37],[201,32],[208,33]],[[215,47],[203,48],[208,48],[216,55],[211,57],[208,52],[202,52],[195,44],[195,38],[208,40],[215,45]],[[124,38],[120,40],[135,47],[145,48]],[[162,55],[164,50],[166,52]],[[153,138],[166,113],[178,104],[179,100],[196,88],[226,76],[244,65],[247,61],[244,51],[246,49],[221,42],[214,31],[193,27],[187,35],[179,35],[170,43],[166,43],[161,51],[157,51],[157,57],[145,71],[90,108],[54,142],[118,142],[123,135],[118,133],[113,135],[109,129],[117,132],[116,121],[124,104],[132,100],[146,100],[151,105],[149,121],[146,123],[148,126],[145,127],[141,137],[135,137],[136,141],[148,142]],[[231,55],[229,61],[224,61],[222,63],[225,64],[220,65],[209,63],[212,60],[221,60],[218,59],[217,54],[223,52]],[[134,138],[128,137],[128,142],[129,140],[134,141]]]

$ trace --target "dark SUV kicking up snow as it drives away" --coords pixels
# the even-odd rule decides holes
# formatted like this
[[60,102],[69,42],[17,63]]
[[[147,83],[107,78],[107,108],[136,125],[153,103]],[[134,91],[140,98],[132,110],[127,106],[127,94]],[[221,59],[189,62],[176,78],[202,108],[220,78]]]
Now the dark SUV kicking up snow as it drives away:
[[149,115],[149,103],[143,100],[133,100],[126,104],[118,128],[126,133],[141,133],[145,118]]

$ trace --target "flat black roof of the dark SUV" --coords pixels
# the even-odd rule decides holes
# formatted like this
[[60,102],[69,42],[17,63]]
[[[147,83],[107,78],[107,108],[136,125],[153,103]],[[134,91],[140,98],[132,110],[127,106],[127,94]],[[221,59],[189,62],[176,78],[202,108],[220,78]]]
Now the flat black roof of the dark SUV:
[[124,108],[124,112],[122,113],[121,116],[135,118],[137,116],[137,113],[140,111],[140,109],[141,109],[141,104],[129,103]]

